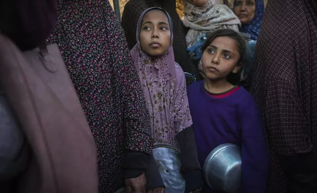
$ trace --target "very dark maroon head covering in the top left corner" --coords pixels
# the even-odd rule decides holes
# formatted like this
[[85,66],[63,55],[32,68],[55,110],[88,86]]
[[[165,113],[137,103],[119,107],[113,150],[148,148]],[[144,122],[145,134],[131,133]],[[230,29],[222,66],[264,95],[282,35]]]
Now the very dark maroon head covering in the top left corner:
[[55,26],[58,0],[1,0],[0,31],[22,50],[45,40]]

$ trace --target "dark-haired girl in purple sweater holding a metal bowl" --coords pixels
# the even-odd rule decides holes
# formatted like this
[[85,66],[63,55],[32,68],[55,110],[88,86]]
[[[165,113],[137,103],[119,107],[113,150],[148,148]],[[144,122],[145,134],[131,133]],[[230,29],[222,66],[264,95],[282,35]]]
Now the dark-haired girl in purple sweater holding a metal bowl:
[[[214,32],[202,47],[206,79],[190,85],[188,98],[200,165],[217,146],[236,144],[242,148],[241,193],[265,193],[269,156],[261,113],[253,96],[236,86],[245,49],[237,32]],[[202,193],[216,192],[205,183]]]

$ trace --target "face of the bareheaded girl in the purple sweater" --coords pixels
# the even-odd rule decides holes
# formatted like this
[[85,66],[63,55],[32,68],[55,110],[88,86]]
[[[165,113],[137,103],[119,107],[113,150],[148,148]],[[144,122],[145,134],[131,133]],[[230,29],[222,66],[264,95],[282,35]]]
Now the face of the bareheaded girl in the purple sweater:
[[226,79],[230,72],[239,71],[239,59],[238,45],[234,39],[216,37],[203,52],[202,69],[211,80]]

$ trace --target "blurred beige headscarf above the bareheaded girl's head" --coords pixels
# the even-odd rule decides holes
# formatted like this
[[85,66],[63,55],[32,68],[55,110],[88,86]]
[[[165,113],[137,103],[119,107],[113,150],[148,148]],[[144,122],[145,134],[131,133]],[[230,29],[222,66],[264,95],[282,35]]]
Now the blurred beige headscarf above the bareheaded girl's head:
[[202,7],[186,2],[183,24],[190,28],[186,35],[188,48],[203,33],[211,33],[220,29],[232,29],[239,32],[241,26],[239,18],[228,6],[216,4],[214,0],[209,0]]

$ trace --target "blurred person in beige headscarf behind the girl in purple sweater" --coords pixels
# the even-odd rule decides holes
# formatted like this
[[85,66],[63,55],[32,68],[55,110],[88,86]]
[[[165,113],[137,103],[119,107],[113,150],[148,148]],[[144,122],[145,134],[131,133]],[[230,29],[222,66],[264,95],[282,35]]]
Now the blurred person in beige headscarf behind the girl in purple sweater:
[[201,46],[208,34],[220,29],[232,29],[239,32],[241,23],[232,10],[214,0],[184,1],[183,24],[188,28],[187,47],[191,59],[197,64],[202,56]]

